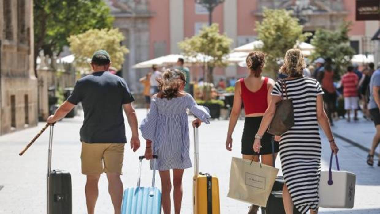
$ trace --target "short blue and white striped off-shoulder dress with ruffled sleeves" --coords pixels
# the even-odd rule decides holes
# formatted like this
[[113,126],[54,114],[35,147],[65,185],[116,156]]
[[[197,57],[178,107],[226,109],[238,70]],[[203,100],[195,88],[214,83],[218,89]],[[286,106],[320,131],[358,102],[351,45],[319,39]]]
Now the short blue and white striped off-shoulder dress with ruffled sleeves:
[[140,130],[144,139],[152,141],[153,153],[158,155],[157,170],[192,167],[186,109],[209,124],[209,109],[198,106],[190,94],[170,100],[152,97],[150,111],[142,121]]

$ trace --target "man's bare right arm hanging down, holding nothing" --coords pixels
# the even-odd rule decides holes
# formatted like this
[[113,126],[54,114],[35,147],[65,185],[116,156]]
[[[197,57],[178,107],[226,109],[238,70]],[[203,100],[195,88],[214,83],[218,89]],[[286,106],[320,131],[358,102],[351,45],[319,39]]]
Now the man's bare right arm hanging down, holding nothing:
[[131,131],[132,131],[131,149],[133,149],[133,152],[136,152],[137,149],[140,147],[136,111],[133,108],[131,103],[123,104],[123,109],[124,109],[125,114],[127,115],[128,124],[129,124],[129,127],[131,127]]

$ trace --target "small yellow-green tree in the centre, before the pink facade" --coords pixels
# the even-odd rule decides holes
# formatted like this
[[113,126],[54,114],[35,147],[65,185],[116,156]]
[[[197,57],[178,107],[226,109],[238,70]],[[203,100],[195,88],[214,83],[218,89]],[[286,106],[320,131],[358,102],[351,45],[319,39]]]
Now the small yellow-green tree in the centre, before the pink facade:
[[215,67],[225,67],[225,57],[230,53],[232,40],[225,34],[219,33],[219,25],[212,24],[201,29],[198,35],[179,42],[179,48],[188,57],[193,57],[204,64],[208,70],[207,81],[214,82]]

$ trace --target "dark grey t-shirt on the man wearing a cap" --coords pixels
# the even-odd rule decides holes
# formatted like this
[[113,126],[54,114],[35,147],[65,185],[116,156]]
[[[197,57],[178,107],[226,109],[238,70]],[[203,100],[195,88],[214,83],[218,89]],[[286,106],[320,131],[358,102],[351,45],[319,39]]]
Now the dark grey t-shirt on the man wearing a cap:
[[79,79],[67,99],[84,111],[80,131],[85,143],[126,143],[123,104],[134,101],[123,78],[108,71],[95,72]]

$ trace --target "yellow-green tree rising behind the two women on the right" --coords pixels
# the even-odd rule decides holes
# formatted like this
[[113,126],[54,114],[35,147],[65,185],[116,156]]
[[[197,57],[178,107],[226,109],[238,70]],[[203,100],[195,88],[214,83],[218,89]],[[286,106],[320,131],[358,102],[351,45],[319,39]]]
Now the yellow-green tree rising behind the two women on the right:
[[258,39],[263,41],[261,49],[267,54],[264,71],[277,73],[278,61],[283,59],[288,49],[297,42],[305,41],[310,33],[302,33],[303,26],[287,10],[264,9],[264,19],[256,22]]

